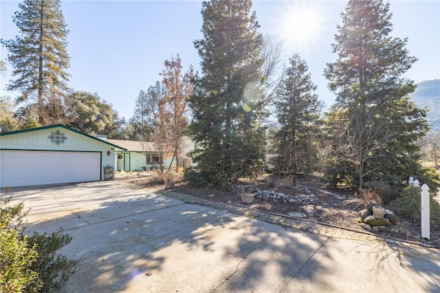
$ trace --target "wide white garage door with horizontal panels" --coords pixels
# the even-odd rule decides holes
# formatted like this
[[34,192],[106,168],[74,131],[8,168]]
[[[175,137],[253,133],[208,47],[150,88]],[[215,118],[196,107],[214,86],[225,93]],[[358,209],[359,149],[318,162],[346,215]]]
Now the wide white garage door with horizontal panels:
[[100,180],[100,153],[0,151],[0,186]]

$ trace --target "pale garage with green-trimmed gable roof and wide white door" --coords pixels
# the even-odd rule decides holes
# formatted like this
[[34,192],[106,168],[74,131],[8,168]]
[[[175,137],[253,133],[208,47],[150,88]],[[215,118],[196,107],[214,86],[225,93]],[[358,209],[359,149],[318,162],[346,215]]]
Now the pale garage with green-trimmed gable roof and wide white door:
[[1,133],[0,146],[1,188],[108,179],[104,166],[126,151],[61,124]]

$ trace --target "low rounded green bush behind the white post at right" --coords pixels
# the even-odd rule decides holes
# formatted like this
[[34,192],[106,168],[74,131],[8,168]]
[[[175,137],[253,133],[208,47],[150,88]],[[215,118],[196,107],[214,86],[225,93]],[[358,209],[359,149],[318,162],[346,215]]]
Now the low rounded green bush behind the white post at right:
[[[420,187],[408,186],[404,188],[399,197],[391,203],[391,209],[396,215],[404,217],[413,223],[420,224]],[[440,222],[440,205],[430,193],[430,224],[438,226]]]

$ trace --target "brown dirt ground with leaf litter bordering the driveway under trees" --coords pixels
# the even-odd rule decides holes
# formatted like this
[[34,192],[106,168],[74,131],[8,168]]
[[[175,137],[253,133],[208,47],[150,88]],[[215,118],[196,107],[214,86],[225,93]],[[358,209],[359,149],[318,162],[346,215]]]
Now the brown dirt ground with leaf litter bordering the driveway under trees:
[[[141,186],[153,185],[145,178],[131,179],[130,181]],[[304,194],[307,188],[319,200],[313,204],[292,204],[282,199],[255,197],[254,202],[248,208],[278,215],[301,215],[305,219],[312,219],[353,230],[364,230],[360,225],[358,214],[360,210],[365,208],[364,200],[347,188],[325,188],[320,182],[305,180],[304,178],[298,178],[296,186],[278,186],[274,182],[277,182],[277,180],[274,180],[272,176],[253,182],[239,182],[239,184],[251,185],[261,190],[274,190],[285,193],[285,195]],[[175,184],[173,191],[203,197],[212,201],[244,206],[241,203],[239,192],[228,191],[222,188],[194,187],[181,182]],[[386,205],[384,207],[387,208]],[[431,226],[430,240],[422,239],[420,224],[406,221],[406,219],[401,217],[398,217],[397,225],[391,226],[386,232],[375,233],[393,239],[415,241],[434,248],[440,248],[440,230],[437,227]]]

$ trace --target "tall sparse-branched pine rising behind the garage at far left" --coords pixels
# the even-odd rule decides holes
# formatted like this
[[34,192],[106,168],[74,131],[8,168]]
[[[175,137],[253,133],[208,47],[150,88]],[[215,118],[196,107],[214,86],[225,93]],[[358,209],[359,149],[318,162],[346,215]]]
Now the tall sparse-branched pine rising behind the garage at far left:
[[49,96],[67,90],[69,55],[61,0],[25,0],[12,17],[20,30],[14,40],[1,40],[8,48],[14,68],[7,89],[20,90],[17,102],[36,100],[39,124],[45,125],[45,103]]

